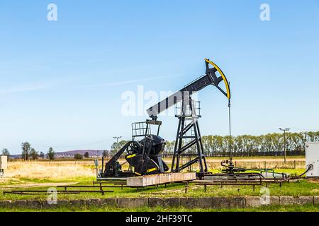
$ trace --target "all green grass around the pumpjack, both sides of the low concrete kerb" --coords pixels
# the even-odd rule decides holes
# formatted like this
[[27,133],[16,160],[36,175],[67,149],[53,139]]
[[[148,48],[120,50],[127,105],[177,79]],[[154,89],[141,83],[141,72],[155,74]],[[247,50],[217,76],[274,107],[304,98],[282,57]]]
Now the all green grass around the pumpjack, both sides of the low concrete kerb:
[[[286,173],[296,173],[301,174],[304,169],[278,169],[276,172],[286,172]],[[215,172],[215,170],[214,170]],[[218,171],[216,171],[218,172]],[[63,182],[77,182],[77,185],[92,185],[94,177],[80,177],[80,178],[72,178],[64,180]],[[12,179],[8,180],[5,183],[0,183],[0,201],[3,200],[47,200],[46,194],[41,195],[17,195],[17,194],[3,194],[1,192],[1,188],[7,185],[16,185],[16,184],[38,184],[37,187],[33,188],[16,188],[16,190],[47,190],[47,186],[43,186],[41,184],[44,183],[57,183],[61,182],[57,179]],[[184,185],[183,184],[169,184],[167,188],[164,186],[159,186],[158,189],[155,187],[148,187],[144,189],[140,189],[137,191],[136,189],[131,188],[108,188],[105,190],[113,190],[113,193],[106,193],[104,196],[101,194],[70,194],[70,195],[63,195],[58,194],[58,200],[76,200],[76,199],[88,199],[88,198],[137,198],[137,197],[162,197],[162,198],[169,198],[169,197],[216,197],[216,196],[223,196],[223,197],[233,197],[233,196],[260,196],[259,191],[262,189],[263,186],[256,186],[255,189],[252,189],[252,186],[208,186],[207,192],[204,192],[203,186],[196,186],[191,184],[189,187],[189,191],[187,193],[184,192]],[[268,186],[270,195],[271,196],[319,196],[319,183],[310,182],[306,179],[300,179],[296,182],[284,183],[283,186],[279,186],[279,184],[269,184]],[[15,190],[15,189],[11,189]],[[60,190],[60,189],[59,189]],[[62,190],[62,189],[61,189]],[[9,209],[9,208],[0,208],[1,211],[34,211],[32,209]],[[229,211],[229,212],[245,212],[245,211],[319,211],[319,206],[263,206],[262,208],[235,208],[235,209],[187,209],[187,208],[136,208],[136,209],[123,209],[123,208],[110,208],[110,207],[96,207],[96,206],[89,206],[89,207],[58,207],[52,210],[37,210],[37,211],[134,211],[134,212],[167,212],[167,211]]]

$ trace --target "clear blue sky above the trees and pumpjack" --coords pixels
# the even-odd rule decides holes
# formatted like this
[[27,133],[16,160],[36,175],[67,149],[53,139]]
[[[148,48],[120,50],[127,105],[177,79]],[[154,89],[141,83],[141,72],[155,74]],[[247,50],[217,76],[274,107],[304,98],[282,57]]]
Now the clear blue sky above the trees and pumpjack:
[[[57,21],[47,5],[57,5]],[[269,4],[271,20],[259,20]],[[319,130],[319,1],[0,1],[0,148],[106,149],[130,139],[121,95],[179,90],[209,58],[231,84],[233,135]],[[216,88],[204,135],[228,133]],[[146,107],[145,107],[146,109]],[[174,140],[177,119],[159,117]]]

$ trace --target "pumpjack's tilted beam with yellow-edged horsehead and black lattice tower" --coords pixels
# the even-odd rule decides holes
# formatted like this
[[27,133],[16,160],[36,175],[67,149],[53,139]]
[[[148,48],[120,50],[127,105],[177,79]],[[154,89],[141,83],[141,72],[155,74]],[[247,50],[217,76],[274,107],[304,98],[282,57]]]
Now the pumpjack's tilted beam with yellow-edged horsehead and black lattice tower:
[[[147,113],[151,119],[157,120],[157,114],[181,102],[181,112],[176,117],[179,119],[177,136],[174,146],[174,155],[172,160],[171,172],[181,172],[183,169],[191,165],[199,163],[198,177],[203,177],[208,173],[206,157],[201,141],[201,131],[198,126],[198,114],[200,107],[196,106],[196,102],[191,99],[191,95],[206,88],[208,85],[214,85],[223,95],[228,98],[228,107],[230,107],[230,85],[223,71],[209,59],[205,59],[206,73],[204,76],[196,79],[189,85],[179,90],[177,93],[162,100],[157,105],[147,109]],[[212,68],[210,66],[213,66]],[[219,76],[216,73],[219,73]],[[224,82],[225,90],[220,88],[220,83]],[[195,148],[193,148],[195,146]],[[187,150],[193,149],[191,153]],[[183,157],[186,160],[183,160]]]

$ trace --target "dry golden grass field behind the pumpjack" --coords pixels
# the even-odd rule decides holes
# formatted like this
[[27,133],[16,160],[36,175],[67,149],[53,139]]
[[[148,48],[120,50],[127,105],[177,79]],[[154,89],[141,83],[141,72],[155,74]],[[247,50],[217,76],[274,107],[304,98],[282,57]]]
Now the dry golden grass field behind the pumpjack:
[[[107,160],[106,160],[107,161]],[[172,162],[171,158],[165,158],[165,162],[170,167]],[[256,160],[236,160],[234,162],[237,167],[261,169],[265,167],[274,169],[293,169],[296,165],[296,169],[303,169],[305,167],[304,160],[287,160],[286,163],[283,160],[268,159],[261,161]],[[125,160],[120,160],[121,164]],[[101,160],[99,161],[99,167],[101,168]],[[127,169],[128,164],[123,165],[123,169]],[[198,169],[198,166],[193,165],[193,169]],[[211,160],[208,158],[208,169],[222,169],[220,166],[220,160]],[[49,161],[12,161],[8,162],[8,169],[6,169],[6,178],[11,179],[74,179],[78,177],[94,177],[96,170],[93,160],[86,161],[74,161],[74,160],[55,160]]]

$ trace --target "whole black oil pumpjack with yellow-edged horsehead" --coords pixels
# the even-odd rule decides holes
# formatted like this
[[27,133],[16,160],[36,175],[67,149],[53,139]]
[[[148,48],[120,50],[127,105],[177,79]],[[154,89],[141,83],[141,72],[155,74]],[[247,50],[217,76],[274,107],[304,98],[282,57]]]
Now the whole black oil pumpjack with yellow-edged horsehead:
[[[206,73],[195,81],[184,86],[181,90],[166,99],[147,109],[150,119],[132,124],[132,141],[126,143],[121,150],[113,155],[111,160],[106,162],[100,172],[100,177],[131,177],[134,175],[158,174],[169,171],[169,167],[162,160],[162,151],[165,141],[159,136],[159,128],[162,121],[158,121],[158,114],[169,109],[173,105],[181,104],[177,136],[174,145],[171,172],[181,172],[191,165],[199,165],[198,177],[203,177],[208,173],[206,157],[203,150],[201,131],[198,126],[198,119],[201,117],[196,106],[199,102],[191,99],[191,95],[213,85],[228,98],[230,107],[230,86],[223,71],[209,59],[205,59]],[[225,90],[220,87],[220,83],[225,84]],[[154,126],[157,126],[156,133],[152,133]],[[191,133],[191,134],[189,134]],[[140,141],[135,141],[142,138]],[[187,153],[187,150],[193,150]],[[125,160],[129,164],[127,171],[121,169],[118,159],[125,153]],[[182,162],[183,157],[187,156],[186,161]],[[102,159],[103,167],[103,159]]]

